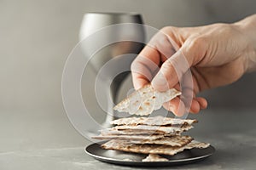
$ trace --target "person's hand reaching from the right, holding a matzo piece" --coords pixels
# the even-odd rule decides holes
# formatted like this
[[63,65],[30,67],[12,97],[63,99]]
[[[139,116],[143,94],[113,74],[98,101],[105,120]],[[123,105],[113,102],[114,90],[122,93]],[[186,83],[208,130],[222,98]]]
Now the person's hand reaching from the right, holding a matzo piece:
[[[161,29],[131,65],[134,87],[142,88],[152,81],[158,91],[165,91],[166,87],[180,88],[178,75],[184,77],[190,68],[193,99],[189,111],[197,113],[207,108],[207,100],[196,94],[236,82],[255,67],[255,22],[256,15],[253,15],[235,24]],[[183,66],[184,59],[187,66]],[[179,104],[184,106],[183,99],[176,98],[164,107],[182,116],[185,107],[178,110]]]

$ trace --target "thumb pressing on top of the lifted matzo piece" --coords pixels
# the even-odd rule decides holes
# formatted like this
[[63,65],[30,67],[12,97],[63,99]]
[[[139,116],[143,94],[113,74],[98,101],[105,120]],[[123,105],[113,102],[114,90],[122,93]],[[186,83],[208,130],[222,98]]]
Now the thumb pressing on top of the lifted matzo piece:
[[161,65],[152,81],[155,90],[163,92],[181,82],[191,65],[196,65],[204,55],[201,40],[186,41],[183,47]]

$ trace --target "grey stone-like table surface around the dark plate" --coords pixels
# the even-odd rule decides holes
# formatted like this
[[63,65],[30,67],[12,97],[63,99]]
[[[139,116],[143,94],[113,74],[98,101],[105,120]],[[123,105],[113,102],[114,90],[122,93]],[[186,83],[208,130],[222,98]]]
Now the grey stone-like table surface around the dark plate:
[[[0,169],[147,169],[96,161],[84,153],[90,141],[77,133],[63,113],[38,117],[3,114],[0,120]],[[194,164],[160,169],[256,169],[255,111],[202,111],[189,131],[195,139],[211,143],[216,152]]]

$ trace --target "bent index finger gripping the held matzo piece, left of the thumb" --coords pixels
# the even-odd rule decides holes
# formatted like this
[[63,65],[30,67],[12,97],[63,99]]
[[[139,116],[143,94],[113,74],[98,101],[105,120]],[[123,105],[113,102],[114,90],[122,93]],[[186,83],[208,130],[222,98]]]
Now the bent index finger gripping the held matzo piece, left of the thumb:
[[151,82],[160,65],[175,53],[172,37],[163,30],[157,32],[131,64],[134,88],[142,88]]

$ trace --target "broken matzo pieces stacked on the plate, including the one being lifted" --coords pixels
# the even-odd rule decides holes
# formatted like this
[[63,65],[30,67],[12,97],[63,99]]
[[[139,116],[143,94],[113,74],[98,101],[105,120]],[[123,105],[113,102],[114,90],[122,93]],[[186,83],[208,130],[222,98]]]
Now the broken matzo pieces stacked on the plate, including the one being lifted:
[[93,138],[108,140],[102,144],[103,149],[148,154],[143,161],[168,161],[158,154],[173,156],[183,150],[207,148],[210,144],[197,142],[189,136],[181,135],[184,131],[193,128],[192,124],[197,122],[196,120],[145,116],[160,109],[163,103],[177,95],[180,95],[180,92],[174,88],[165,93],[154,92],[150,85],[139,89],[116,105],[114,110],[126,111],[142,117],[133,116],[114,120],[111,122],[114,127],[103,129],[99,136]]

